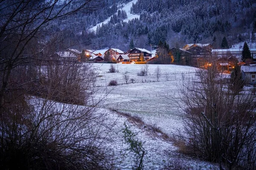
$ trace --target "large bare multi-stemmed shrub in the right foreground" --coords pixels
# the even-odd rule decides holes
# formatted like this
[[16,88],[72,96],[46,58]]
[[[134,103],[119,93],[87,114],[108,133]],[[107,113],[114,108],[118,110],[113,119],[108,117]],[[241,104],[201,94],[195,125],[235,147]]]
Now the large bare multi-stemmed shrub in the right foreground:
[[223,163],[230,170],[254,169],[256,96],[240,90],[238,94],[224,84],[224,74],[218,73],[215,64],[197,74],[199,82],[180,86],[189,144],[208,161],[218,162],[220,169]]

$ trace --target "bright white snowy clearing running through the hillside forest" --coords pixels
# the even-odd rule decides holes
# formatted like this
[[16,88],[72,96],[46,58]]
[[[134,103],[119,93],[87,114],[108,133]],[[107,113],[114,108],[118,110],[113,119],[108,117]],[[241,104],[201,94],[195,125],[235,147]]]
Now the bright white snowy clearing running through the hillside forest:
[[[131,6],[132,4],[134,3],[137,3],[138,0],[132,0],[131,2],[129,3],[126,3],[126,4],[121,4],[119,5],[119,9],[120,10],[124,10],[127,14],[127,18],[125,20],[123,20],[124,22],[128,22],[129,20],[132,20],[134,18],[140,18],[140,15],[136,15],[136,14],[131,14],[130,12],[130,9],[131,9]],[[117,14],[117,12],[116,12]],[[108,17],[105,21],[103,21],[102,23],[106,24],[110,21],[111,17]],[[89,29],[89,31],[96,31],[97,29],[97,26],[102,26],[102,23],[98,23],[96,26],[93,26],[92,28]]]

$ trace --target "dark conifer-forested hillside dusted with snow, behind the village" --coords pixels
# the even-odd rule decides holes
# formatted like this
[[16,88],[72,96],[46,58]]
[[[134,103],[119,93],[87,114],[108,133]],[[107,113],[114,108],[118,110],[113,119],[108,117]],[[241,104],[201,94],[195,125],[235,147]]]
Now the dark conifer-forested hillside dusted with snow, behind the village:
[[[55,25],[55,31],[68,30],[70,44],[77,48],[113,47],[127,50],[134,40],[135,46],[150,49],[159,40],[170,47],[185,43],[212,43],[220,48],[227,37],[230,45],[248,40],[256,27],[256,2],[254,0],[138,0],[130,12],[140,18],[122,22],[126,17],[120,4],[130,0],[104,0],[99,9],[90,14],[78,13],[67,18],[63,28]],[[89,28],[111,17],[96,31]],[[240,37],[238,36],[239,34]],[[79,44],[79,45],[78,45]]]

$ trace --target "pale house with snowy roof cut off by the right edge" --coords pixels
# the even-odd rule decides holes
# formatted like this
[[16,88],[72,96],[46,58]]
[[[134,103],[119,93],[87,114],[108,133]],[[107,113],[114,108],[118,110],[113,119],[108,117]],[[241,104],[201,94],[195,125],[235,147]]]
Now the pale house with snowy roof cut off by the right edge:
[[241,65],[241,71],[243,72],[244,79],[246,80],[247,83],[256,83],[256,62]]

